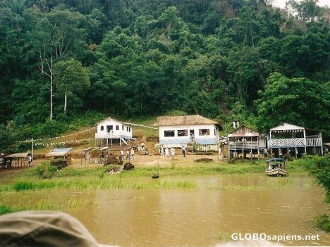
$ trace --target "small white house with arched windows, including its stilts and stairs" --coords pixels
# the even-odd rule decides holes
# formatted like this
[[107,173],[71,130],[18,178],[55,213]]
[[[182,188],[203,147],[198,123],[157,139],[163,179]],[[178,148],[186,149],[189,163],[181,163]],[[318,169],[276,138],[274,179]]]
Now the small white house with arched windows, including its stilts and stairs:
[[97,124],[95,142],[97,146],[129,145],[133,129],[124,122],[106,118]]

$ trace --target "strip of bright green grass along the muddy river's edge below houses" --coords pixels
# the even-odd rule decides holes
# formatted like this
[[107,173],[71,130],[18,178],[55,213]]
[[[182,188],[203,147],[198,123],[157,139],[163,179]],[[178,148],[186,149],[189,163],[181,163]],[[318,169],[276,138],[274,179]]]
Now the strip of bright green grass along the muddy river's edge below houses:
[[[114,166],[66,167],[52,171],[43,179],[39,167],[13,173],[0,179],[0,192],[59,190],[59,189],[195,189],[194,176],[218,176],[226,174],[263,173],[261,162],[240,163],[194,163],[191,166],[161,167],[160,179],[151,176],[158,172],[157,166],[138,167],[118,174],[109,174]],[[302,167],[293,162],[291,175],[302,172]],[[229,187],[228,187],[229,188]]]

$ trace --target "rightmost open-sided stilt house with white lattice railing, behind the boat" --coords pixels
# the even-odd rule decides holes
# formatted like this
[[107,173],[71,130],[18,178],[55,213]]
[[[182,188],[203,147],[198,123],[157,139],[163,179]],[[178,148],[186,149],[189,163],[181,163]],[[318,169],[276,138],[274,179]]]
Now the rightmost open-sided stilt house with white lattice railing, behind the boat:
[[268,148],[275,156],[285,153],[296,157],[302,153],[323,155],[322,132],[285,122],[269,129]]

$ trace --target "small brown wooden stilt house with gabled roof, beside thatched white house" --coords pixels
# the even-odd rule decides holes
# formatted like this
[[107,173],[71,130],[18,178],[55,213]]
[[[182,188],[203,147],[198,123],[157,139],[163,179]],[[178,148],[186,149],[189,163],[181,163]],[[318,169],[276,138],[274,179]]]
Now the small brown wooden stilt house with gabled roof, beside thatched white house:
[[266,137],[259,134],[259,132],[241,125],[236,127],[227,136],[228,139],[228,151],[232,156],[238,157],[241,153],[245,158],[246,153],[260,154],[260,151],[264,151],[266,148]]

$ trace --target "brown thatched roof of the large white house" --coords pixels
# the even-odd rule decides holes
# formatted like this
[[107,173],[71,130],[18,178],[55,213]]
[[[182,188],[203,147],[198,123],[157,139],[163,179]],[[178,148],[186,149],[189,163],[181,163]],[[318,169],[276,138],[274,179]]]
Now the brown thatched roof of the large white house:
[[158,117],[154,126],[178,126],[178,125],[218,125],[218,122],[204,118],[201,115],[164,116]]

